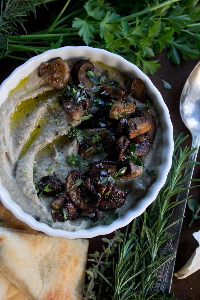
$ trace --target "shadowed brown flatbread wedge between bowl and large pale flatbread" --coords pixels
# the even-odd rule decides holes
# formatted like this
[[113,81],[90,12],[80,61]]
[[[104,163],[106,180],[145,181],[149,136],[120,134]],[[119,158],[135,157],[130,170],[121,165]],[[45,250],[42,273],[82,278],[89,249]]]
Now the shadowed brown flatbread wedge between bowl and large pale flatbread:
[[18,220],[5,206],[0,202],[0,227],[15,228],[20,230],[36,231],[26,223]]

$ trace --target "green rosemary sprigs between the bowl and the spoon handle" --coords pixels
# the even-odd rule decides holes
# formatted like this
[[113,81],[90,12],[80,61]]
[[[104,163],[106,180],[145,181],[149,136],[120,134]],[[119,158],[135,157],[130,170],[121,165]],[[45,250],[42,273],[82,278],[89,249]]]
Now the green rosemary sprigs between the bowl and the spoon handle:
[[[190,180],[182,176],[183,170],[189,164],[199,164],[198,162],[185,162],[194,151],[189,150],[188,147],[181,148],[186,138],[187,136],[180,134],[174,142],[173,162],[165,185],[156,200],[133,221],[130,231],[129,226],[126,227],[123,242],[117,242],[112,258],[108,257],[106,268],[102,264],[99,269],[99,261],[98,265],[96,261],[92,261],[93,274],[90,281],[92,280],[93,283],[90,283],[90,286],[94,287],[93,291],[91,289],[91,294],[85,293],[85,300],[90,297],[106,300],[173,298],[173,293],[164,295],[162,291],[153,293],[151,290],[157,283],[159,268],[174,255],[174,253],[159,254],[159,248],[163,242],[173,238],[173,235],[166,237],[171,208],[178,204],[172,202],[171,197],[184,190],[183,182]],[[106,240],[103,239],[103,241]]]

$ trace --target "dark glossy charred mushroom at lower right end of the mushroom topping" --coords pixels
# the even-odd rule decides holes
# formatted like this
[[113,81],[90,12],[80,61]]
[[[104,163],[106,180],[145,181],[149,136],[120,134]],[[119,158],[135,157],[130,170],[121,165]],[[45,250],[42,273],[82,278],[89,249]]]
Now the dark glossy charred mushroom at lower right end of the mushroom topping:
[[121,190],[115,184],[108,184],[103,190],[102,198],[98,203],[99,210],[113,210],[121,207],[127,195],[126,190]]

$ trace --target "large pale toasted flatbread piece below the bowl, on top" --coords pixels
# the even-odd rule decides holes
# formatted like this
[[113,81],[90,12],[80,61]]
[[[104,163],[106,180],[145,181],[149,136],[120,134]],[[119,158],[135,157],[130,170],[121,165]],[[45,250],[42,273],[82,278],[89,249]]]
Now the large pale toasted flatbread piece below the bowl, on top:
[[80,300],[88,244],[0,228],[0,272],[29,300]]

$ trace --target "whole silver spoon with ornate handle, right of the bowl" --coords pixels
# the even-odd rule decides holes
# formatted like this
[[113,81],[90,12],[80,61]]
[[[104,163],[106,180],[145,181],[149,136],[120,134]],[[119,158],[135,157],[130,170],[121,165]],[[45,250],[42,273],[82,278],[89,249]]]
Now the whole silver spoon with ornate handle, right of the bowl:
[[[189,155],[188,161],[196,161],[200,146],[200,62],[192,70],[183,87],[183,91],[180,96],[180,115],[183,123],[186,125],[192,135],[191,149],[196,148],[195,151]],[[192,178],[193,171],[194,165],[188,166],[185,169],[184,176],[186,178]],[[191,181],[184,182],[184,187],[187,188],[187,190],[180,192],[177,195],[176,201],[181,201],[188,197],[190,183]],[[174,207],[169,219],[169,224],[174,223],[184,216],[186,202],[187,201],[181,202]],[[183,219],[168,229],[166,237],[174,234],[174,232],[176,232],[176,235],[174,236],[173,240],[165,243],[165,245],[162,246],[162,249],[159,249],[164,255],[172,252],[174,252],[175,255],[170,261],[163,265],[162,268],[159,268],[159,283],[155,286],[153,292],[159,290],[162,290],[165,294],[170,292],[182,223]]]

